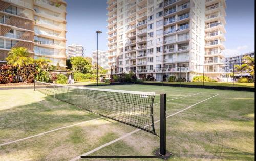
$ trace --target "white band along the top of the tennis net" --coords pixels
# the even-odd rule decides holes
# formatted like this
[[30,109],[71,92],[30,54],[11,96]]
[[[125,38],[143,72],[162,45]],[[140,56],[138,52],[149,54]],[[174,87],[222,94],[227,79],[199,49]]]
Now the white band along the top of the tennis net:
[[105,91],[105,92],[117,92],[117,93],[127,93],[127,94],[139,94],[139,95],[151,95],[155,96],[155,92],[140,92],[140,91],[124,91],[124,90],[112,90],[112,89],[102,89],[102,88],[88,88],[88,87],[76,87],[76,86],[65,86],[60,84],[52,84],[52,83],[45,83],[41,81],[35,81],[43,84],[48,84],[52,86],[60,86],[60,87],[69,87],[69,88],[76,88],[76,89],[86,89],[86,90],[96,90],[96,91]]

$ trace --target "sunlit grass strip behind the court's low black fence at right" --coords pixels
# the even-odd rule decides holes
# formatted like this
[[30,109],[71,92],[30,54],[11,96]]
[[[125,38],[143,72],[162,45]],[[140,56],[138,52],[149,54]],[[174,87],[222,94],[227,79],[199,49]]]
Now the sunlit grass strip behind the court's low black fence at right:
[[[152,81],[145,81],[152,82]],[[169,83],[169,84],[183,84],[183,85],[203,85],[203,82],[153,82],[153,83]],[[232,87],[232,82],[204,82],[205,86],[228,86]],[[238,83],[234,82],[234,87],[251,87],[254,88],[254,83]]]

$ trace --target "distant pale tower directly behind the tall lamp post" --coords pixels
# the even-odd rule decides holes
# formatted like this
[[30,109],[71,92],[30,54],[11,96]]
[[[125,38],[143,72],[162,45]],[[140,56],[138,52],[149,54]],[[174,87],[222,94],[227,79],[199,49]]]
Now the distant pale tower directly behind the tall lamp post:
[[[97,51],[93,51],[92,65],[97,63]],[[98,50],[98,65],[103,69],[108,68],[108,52]]]

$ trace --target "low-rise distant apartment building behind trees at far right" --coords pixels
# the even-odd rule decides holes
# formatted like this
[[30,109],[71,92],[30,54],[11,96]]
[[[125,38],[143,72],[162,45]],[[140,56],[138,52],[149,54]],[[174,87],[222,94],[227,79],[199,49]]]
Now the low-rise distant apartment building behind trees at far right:
[[[226,72],[226,73],[233,72],[233,65],[243,64],[244,56],[249,56],[249,57],[253,58],[253,57],[255,57],[255,52],[249,52],[249,53],[244,53],[242,55],[226,57],[224,59],[224,63],[225,63],[224,72]],[[247,74],[247,75],[249,75],[249,74]]]

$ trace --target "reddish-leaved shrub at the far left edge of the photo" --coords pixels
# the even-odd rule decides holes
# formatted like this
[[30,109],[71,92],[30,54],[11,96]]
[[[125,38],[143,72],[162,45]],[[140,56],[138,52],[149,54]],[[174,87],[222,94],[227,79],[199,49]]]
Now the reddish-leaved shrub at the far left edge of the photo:
[[15,82],[16,67],[11,65],[0,65],[0,83],[12,83]]

